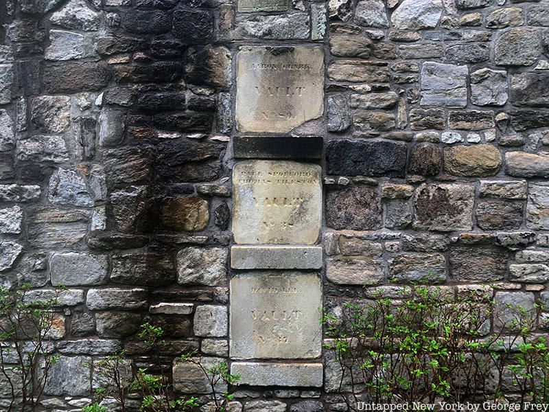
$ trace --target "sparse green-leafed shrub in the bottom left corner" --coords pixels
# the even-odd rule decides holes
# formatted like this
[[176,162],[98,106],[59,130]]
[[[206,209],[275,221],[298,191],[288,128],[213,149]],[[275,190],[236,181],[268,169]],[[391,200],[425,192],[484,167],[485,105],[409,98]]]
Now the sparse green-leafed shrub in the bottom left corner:
[[52,299],[32,300],[30,285],[0,286],[0,375],[10,391],[8,411],[35,411],[51,366],[58,291]]

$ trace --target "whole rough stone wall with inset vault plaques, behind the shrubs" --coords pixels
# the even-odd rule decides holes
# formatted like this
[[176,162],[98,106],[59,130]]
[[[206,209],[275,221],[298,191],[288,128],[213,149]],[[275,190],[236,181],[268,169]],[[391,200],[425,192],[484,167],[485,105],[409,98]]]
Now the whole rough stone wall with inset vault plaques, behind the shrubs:
[[[7,0],[0,44],[1,284],[67,286],[45,410],[85,404],[105,354],[146,365],[145,320],[172,365],[227,359],[234,319],[234,411],[340,411],[315,299],[429,275],[549,301],[547,0]],[[290,217],[255,203],[253,176],[300,168]],[[250,290],[296,284],[305,345],[233,343],[272,308]]]

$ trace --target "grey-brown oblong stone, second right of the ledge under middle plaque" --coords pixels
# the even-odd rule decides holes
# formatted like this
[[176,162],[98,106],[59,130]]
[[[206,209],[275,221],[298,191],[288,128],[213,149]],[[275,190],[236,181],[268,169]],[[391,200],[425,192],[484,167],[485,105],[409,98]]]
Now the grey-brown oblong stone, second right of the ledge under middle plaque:
[[446,272],[446,260],[439,253],[401,253],[389,260],[389,279],[392,282],[443,283]]

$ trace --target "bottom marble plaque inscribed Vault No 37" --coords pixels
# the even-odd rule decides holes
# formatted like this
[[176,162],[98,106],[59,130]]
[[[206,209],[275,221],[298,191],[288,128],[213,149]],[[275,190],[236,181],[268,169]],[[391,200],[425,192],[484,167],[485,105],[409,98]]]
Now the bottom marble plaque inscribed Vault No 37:
[[231,279],[231,358],[318,358],[321,307],[320,278],[314,273],[236,275]]

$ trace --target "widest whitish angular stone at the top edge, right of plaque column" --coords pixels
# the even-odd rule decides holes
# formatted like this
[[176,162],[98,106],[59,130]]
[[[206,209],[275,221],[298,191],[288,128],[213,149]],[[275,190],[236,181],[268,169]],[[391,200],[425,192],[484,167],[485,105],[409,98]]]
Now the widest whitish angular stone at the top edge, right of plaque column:
[[390,20],[399,30],[421,30],[436,27],[441,19],[441,0],[404,0]]

